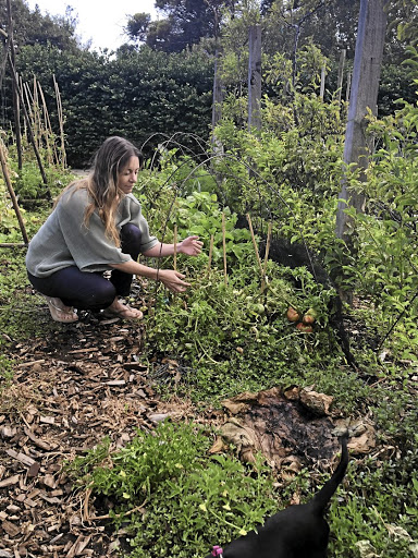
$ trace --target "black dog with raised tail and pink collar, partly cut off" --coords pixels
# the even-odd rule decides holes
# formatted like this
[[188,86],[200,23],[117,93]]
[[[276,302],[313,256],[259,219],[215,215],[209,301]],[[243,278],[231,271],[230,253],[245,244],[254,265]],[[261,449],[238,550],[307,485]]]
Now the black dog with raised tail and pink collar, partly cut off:
[[257,532],[251,531],[233,541],[223,551],[214,547],[207,558],[325,558],[330,527],[323,514],[348,463],[347,437],[341,441],[339,466],[308,504],[279,511],[257,527]]

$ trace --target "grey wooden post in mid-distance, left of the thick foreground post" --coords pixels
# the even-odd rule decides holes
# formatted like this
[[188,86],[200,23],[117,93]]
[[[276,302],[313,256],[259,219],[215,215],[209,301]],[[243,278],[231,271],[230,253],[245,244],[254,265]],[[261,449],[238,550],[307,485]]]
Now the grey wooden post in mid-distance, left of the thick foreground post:
[[248,130],[261,130],[261,25],[249,27]]

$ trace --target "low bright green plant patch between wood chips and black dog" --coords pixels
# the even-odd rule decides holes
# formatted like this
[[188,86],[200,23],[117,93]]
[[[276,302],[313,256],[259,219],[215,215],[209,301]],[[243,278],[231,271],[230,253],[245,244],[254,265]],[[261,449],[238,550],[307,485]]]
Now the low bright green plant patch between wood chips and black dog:
[[[85,475],[89,470],[82,484],[112,501],[111,515],[128,533],[130,556],[197,558],[216,542],[254,529],[278,506],[273,478],[260,461],[253,469],[226,456],[209,458],[209,445],[201,427],[164,422],[155,433],[138,432],[118,452],[96,449],[69,471]],[[137,506],[145,513],[133,513],[126,524],[124,512]]]

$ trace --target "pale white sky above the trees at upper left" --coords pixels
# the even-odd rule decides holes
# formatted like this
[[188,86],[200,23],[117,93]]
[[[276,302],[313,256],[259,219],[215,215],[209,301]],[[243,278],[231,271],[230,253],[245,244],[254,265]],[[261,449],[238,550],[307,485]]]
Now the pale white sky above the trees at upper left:
[[74,9],[73,15],[78,16],[76,35],[83,45],[91,39],[94,50],[114,50],[127,41],[127,37],[123,35],[127,15],[145,12],[151,14],[152,20],[157,20],[153,2],[155,0],[26,0],[30,10],[37,4],[42,14],[48,12],[50,15],[65,15],[66,7],[71,5]]

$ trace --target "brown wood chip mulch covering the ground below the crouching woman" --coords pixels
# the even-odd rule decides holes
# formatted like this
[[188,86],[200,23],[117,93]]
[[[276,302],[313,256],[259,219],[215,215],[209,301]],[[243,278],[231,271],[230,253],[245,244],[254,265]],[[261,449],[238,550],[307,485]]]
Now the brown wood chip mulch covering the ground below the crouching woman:
[[109,522],[91,519],[100,513],[63,464],[106,436],[115,449],[138,428],[193,415],[160,400],[142,345],[143,325],[116,318],[14,344],[0,401],[0,558],[115,556]]

